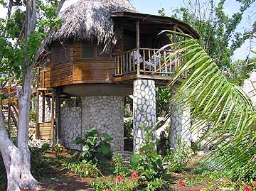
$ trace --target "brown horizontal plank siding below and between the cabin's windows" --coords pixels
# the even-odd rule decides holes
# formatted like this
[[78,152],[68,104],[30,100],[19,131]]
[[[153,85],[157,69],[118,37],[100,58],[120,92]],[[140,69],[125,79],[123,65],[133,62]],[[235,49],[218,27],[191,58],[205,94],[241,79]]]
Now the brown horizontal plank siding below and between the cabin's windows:
[[68,84],[111,82],[114,75],[114,58],[81,58],[81,44],[69,46],[69,60],[51,63],[50,87]]

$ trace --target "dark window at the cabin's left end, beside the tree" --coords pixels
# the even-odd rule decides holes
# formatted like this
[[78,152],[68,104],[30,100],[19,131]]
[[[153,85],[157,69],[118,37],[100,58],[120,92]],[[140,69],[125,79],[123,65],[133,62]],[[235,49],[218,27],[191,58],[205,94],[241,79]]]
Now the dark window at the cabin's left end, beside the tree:
[[68,62],[68,45],[53,45],[52,61],[53,63]]

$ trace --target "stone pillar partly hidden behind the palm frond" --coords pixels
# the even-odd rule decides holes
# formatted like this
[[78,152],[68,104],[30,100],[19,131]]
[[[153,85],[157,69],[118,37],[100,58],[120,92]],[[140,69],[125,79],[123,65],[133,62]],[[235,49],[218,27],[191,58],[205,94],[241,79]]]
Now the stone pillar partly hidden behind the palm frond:
[[[176,93],[176,87],[171,87],[171,98]],[[178,148],[178,141],[191,143],[191,115],[188,104],[184,104],[180,98],[176,102],[170,102],[171,121],[171,148]]]

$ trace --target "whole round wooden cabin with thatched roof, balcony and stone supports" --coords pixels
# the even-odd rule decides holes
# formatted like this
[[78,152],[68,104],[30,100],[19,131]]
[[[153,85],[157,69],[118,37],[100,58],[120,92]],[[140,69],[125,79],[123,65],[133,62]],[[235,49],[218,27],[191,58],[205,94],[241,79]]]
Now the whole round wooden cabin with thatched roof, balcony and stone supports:
[[[73,138],[96,127],[113,136],[112,146],[120,151],[124,146],[123,98],[133,95],[136,151],[144,133],[139,126],[156,123],[154,88],[171,80],[179,65],[178,61],[164,62],[174,50],[162,47],[183,36],[161,31],[193,38],[198,33],[175,18],[138,13],[127,0],[78,1],[60,18],[62,26],[48,44],[33,92],[36,137],[55,138],[78,148]],[[74,104],[74,97],[82,100],[80,104]],[[47,98],[51,101],[46,109]],[[140,108],[146,108],[146,117]],[[46,110],[50,112],[47,120]],[[150,123],[145,124],[145,119]]]

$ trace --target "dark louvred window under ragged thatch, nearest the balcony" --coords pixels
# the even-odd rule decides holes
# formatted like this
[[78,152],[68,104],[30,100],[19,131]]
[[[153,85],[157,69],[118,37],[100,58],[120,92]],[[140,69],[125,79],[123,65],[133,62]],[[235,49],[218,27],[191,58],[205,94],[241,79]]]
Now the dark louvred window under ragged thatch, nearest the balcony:
[[102,53],[104,45],[95,45],[92,43],[84,43],[81,45],[81,58],[92,59],[92,58],[109,58],[110,55]]

